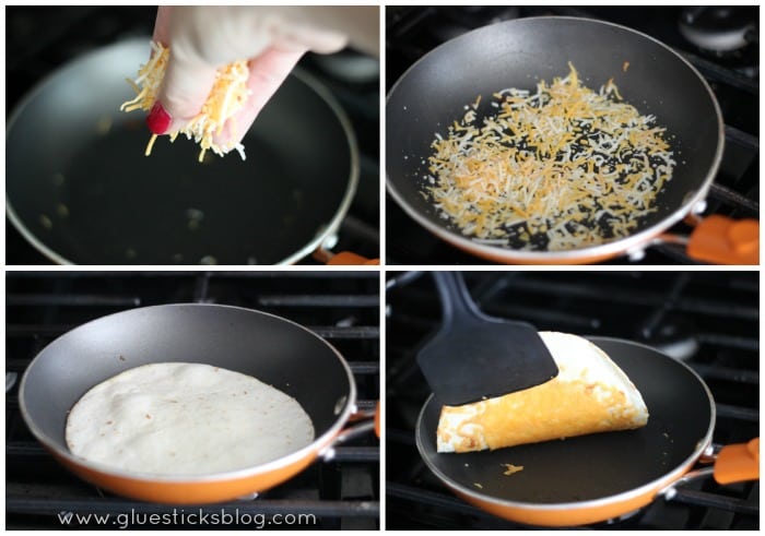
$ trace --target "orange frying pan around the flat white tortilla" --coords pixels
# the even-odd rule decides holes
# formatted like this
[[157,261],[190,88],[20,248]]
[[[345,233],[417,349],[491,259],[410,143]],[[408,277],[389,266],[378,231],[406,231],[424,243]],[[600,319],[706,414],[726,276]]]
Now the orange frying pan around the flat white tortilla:
[[[160,361],[203,362],[273,385],[308,413],[316,439],[273,462],[198,477],[126,472],[71,454],[67,415],[95,384],[133,367]],[[80,477],[115,493],[162,503],[210,503],[263,491],[329,460],[332,445],[369,430],[345,428],[356,412],[356,386],[342,356],[289,320],[216,305],[132,309],[83,324],[45,347],[28,366],[19,393],[32,433]]]

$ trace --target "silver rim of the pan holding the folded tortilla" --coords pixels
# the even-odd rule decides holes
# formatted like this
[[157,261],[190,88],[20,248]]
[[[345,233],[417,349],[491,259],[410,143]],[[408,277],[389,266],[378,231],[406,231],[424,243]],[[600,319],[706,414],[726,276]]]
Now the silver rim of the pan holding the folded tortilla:
[[[682,477],[688,469],[690,467],[695,464],[698,458],[702,456],[704,451],[711,444],[711,439],[713,439],[713,433],[715,431],[715,425],[717,420],[717,408],[715,406],[715,398],[711,395],[711,392],[709,391],[709,386],[704,382],[701,376],[693,370],[691,367],[688,367],[686,364],[672,359],[671,357],[667,356],[666,354],[659,352],[657,348],[654,348],[651,346],[642,344],[642,343],[636,343],[634,341],[628,341],[624,338],[619,338],[619,337],[605,337],[605,336],[590,336],[586,335],[585,338],[588,341],[591,341],[597,345],[599,341],[604,341],[604,342],[615,342],[620,344],[629,344],[634,346],[638,346],[645,349],[649,349],[654,353],[660,354],[667,359],[671,359],[675,364],[682,366],[683,368],[686,369],[687,372],[690,372],[696,381],[698,381],[699,385],[704,389],[704,392],[707,395],[707,398],[709,401],[709,409],[710,409],[710,416],[709,416],[709,426],[707,428],[707,431],[702,440],[698,441],[696,444],[696,448],[694,451],[682,462],[680,462],[672,471],[664,473],[660,477],[643,484],[642,486],[637,488],[632,488],[626,491],[622,491],[616,495],[612,495],[609,497],[601,497],[598,499],[590,499],[586,501],[576,501],[576,502],[560,502],[560,503],[536,503],[536,502],[525,502],[525,501],[514,501],[514,500],[508,500],[508,499],[502,499],[498,497],[493,497],[489,495],[483,495],[480,492],[476,492],[473,489],[470,489],[466,486],[462,486],[460,483],[455,481],[451,479],[449,476],[445,475],[438,467],[435,466],[433,461],[429,460],[428,456],[424,454],[424,445],[422,443],[422,438],[421,438],[421,425],[422,420],[424,418],[425,409],[427,408],[431,400],[433,398],[433,394],[431,394],[425,403],[423,404],[423,407],[420,410],[420,414],[417,416],[417,421],[416,421],[416,432],[415,432],[415,443],[417,446],[417,451],[420,452],[420,456],[423,458],[425,462],[425,465],[438,477],[438,479],[447,485],[449,488],[454,489],[455,491],[459,492],[460,495],[464,495],[470,497],[471,499],[475,499],[476,501],[480,502],[486,502],[486,503],[492,503],[501,508],[514,508],[514,509],[522,509],[527,511],[536,511],[536,512],[560,512],[560,511],[575,511],[575,510],[587,510],[587,509],[595,509],[595,508],[601,508],[601,507],[609,507],[613,505],[615,503],[621,503],[628,501],[631,499],[637,499],[639,497],[644,497],[646,495],[650,495],[651,499],[655,499],[657,496],[662,495],[664,489],[669,488],[672,486],[674,483],[676,483],[680,477]],[[626,512],[621,512],[622,514]],[[604,521],[604,520],[602,520]]]

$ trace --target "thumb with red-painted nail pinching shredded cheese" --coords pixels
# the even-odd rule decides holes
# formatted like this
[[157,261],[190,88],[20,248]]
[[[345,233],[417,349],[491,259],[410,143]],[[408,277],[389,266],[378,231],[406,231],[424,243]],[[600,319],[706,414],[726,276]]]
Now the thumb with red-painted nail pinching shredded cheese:
[[215,82],[215,68],[170,53],[154,107],[146,116],[149,130],[165,134],[183,129],[202,109]]

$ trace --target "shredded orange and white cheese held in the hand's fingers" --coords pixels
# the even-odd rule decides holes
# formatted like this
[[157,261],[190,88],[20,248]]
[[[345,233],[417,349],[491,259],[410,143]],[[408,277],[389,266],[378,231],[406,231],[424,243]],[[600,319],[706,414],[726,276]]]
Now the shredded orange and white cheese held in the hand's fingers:
[[[169,48],[160,43],[152,43],[152,56],[149,62],[138,71],[136,80],[128,83],[136,90],[136,98],[120,106],[122,111],[141,109],[149,111],[154,106],[156,95],[165,78]],[[224,155],[236,150],[245,159],[245,147],[242,143],[221,146],[214,143],[213,135],[220,135],[226,121],[234,121],[233,116],[242,109],[250,95],[247,88],[249,68],[247,60],[235,61],[217,70],[215,82],[210,96],[202,106],[201,111],[181,130],[170,132],[170,142],[174,142],[179,133],[197,142],[202,148],[199,153],[199,162],[204,158],[204,153],[212,150],[217,155]],[[231,126],[231,133],[236,135],[236,124]],[[146,145],[145,155],[149,156],[154,146],[156,134],[153,134]]]

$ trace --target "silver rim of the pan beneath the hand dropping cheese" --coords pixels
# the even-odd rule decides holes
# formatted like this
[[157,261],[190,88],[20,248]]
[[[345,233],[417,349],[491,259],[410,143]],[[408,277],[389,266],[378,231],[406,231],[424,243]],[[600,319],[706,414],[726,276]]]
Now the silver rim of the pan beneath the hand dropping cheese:
[[[43,76],[37,83],[32,86],[31,90],[28,90],[24,96],[19,100],[16,106],[13,108],[11,111],[11,115],[8,119],[8,122],[5,124],[5,136],[8,138],[9,133],[13,129],[14,124],[19,121],[19,118],[21,115],[31,106],[31,103],[35,100],[35,98],[38,97],[40,93],[43,93],[45,90],[47,90],[51,84],[57,83],[58,79],[61,76],[64,76],[67,72],[70,69],[75,68],[79,65],[81,62],[84,61],[91,61],[94,57],[103,53],[107,53],[108,51],[113,49],[117,49],[119,47],[132,47],[132,46],[144,46],[145,44],[145,49],[146,52],[150,50],[148,44],[151,41],[151,37],[149,35],[145,36],[139,36],[139,37],[130,37],[127,39],[118,39],[115,40],[108,45],[105,46],[99,46],[95,47],[92,50],[89,50],[82,55],[79,55],[71,60],[67,61],[66,63],[59,65],[57,69],[55,69],[52,72],[46,74]],[[297,248],[296,251],[293,253],[289,254],[287,257],[281,259],[280,261],[274,262],[272,265],[281,265],[281,264],[294,264],[295,262],[299,261],[301,259],[306,258],[313,251],[315,251],[318,247],[320,247],[331,235],[336,234],[338,229],[340,228],[340,225],[342,223],[342,219],[345,217],[348,214],[348,211],[351,207],[351,203],[353,202],[353,198],[356,194],[356,190],[358,189],[358,180],[360,180],[360,175],[361,175],[361,164],[360,164],[360,156],[358,156],[358,141],[356,140],[356,134],[353,130],[353,124],[351,123],[350,118],[348,117],[348,114],[345,110],[340,106],[340,103],[334,98],[334,96],[330,93],[329,88],[327,88],[322,83],[318,81],[315,76],[310,75],[307,73],[303,68],[295,67],[291,73],[291,76],[294,76],[301,83],[306,85],[310,91],[316,93],[316,95],[323,100],[323,103],[329,107],[329,109],[332,111],[334,117],[338,120],[338,123],[340,124],[340,128],[342,129],[344,135],[345,135],[345,141],[348,143],[348,150],[349,150],[349,156],[350,156],[350,162],[349,162],[349,176],[346,179],[346,186],[345,186],[345,192],[342,195],[342,199],[340,200],[340,203],[338,204],[336,211],[334,211],[334,216],[323,224],[320,229],[317,231],[317,234],[311,238],[308,242],[303,245],[302,247]],[[33,233],[24,223],[24,221],[19,216],[16,211],[13,209],[13,203],[11,202],[11,199],[8,195],[8,189],[5,192],[5,214],[8,215],[8,218],[11,221],[13,226],[19,230],[19,233],[22,235],[22,237],[30,243],[32,247],[34,247],[38,252],[40,252],[43,255],[48,258],[50,261],[52,261],[56,264],[60,265],[75,265],[76,263],[66,257],[63,257],[61,253],[56,251],[55,249],[50,248],[46,241],[42,238],[39,238],[35,233]],[[155,264],[161,264],[161,263],[155,263]],[[154,265],[154,264],[149,264],[149,265]],[[197,264],[179,264],[179,266],[183,265],[188,265],[188,266],[196,266]],[[231,265],[245,265],[244,263],[239,264],[231,264]]]

